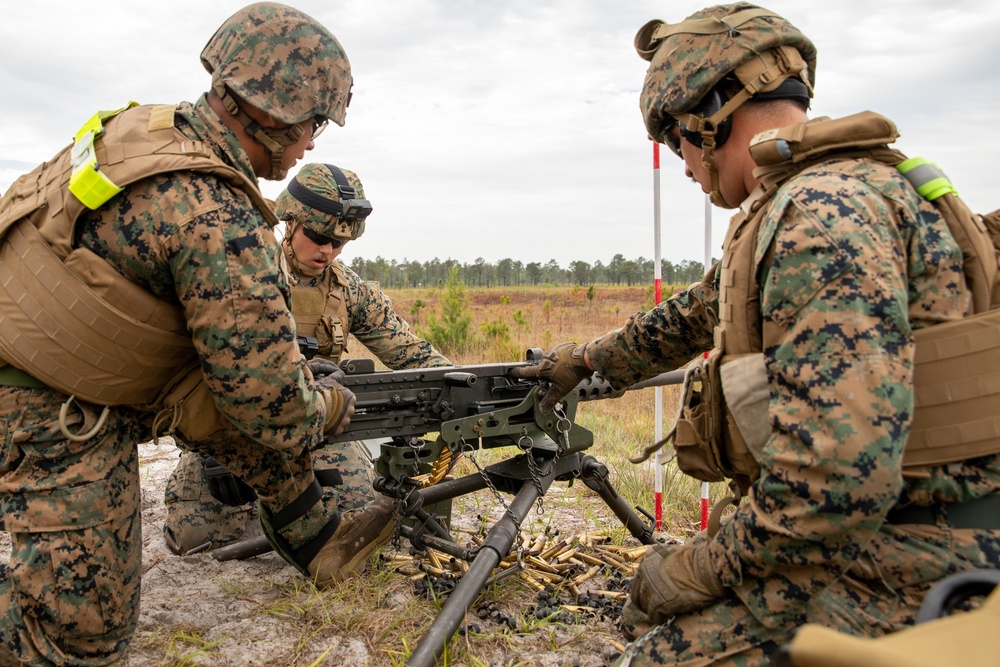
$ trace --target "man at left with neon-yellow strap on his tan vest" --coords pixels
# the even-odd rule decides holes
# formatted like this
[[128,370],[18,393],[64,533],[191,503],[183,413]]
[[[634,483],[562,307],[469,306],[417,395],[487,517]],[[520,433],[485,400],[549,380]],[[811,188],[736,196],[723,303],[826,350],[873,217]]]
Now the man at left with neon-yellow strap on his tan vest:
[[[161,428],[173,421],[197,440],[191,415],[169,403],[170,388],[158,393],[161,371],[193,379],[183,407],[207,415],[202,424],[235,427],[234,437],[208,443],[210,453],[255,490],[269,538],[303,572],[319,583],[345,576],[391,534],[391,503],[341,515],[336,490],[315,480],[309,448],[342,429],[354,397],[335,379],[314,377],[298,351],[271,231],[277,220],[256,180],[284,178],[327,121],[343,124],[347,58],[311,17],[258,3],[222,25],[202,60],[213,85],[197,102],[95,116],[103,127],[81,130],[81,162],[74,151],[71,164],[67,149],[0,199],[0,351],[10,362],[0,366],[0,516],[12,541],[9,563],[0,565],[0,665],[106,665],[122,657],[139,613],[135,443],[153,437],[154,416],[165,419]],[[165,139],[123,150],[121,137],[147,135]],[[81,146],[87,136],[96,149],[92,171]],[[94,199],[95,191],[74,189],[78,176],[123,190]],[[85,298],[64,302],[59,290],[31,282],[34,273],[11,275],[24,239],[48,284]],[[66,278],[71,259],[113,278]],[[53,313],[56,306],[115,312],[107,306],[121,290],[135,297],[119,306],[131,304],[131,319],[108,321],[134,321],[116,324],[121,331],[162,329],[184,345],[176,355],[116,368],[115,377],[131,383],[119,395],[120,387],[94,383],[80,368],[113,376],[102,353],[142,351],[144,342],[106,335],[107,322],[94,320],[91,330]],[[52,304],[44,317],[29,310],[35,300]],[[148,308],[138,312],[139,305]],[[48,338],[19,335],[50,329]],[[168,329],[180,333],[171,338]],[[97,349],[60,347],[75,339]],[[26,345],[40,354],[27,358]],[[64,368],[46,366],[50,353],[68,360]],[[188,361],[191,374],[182,368]],[[133,389],[148,375],[154,386]],[[196,404],[199,395],[208,400]]]

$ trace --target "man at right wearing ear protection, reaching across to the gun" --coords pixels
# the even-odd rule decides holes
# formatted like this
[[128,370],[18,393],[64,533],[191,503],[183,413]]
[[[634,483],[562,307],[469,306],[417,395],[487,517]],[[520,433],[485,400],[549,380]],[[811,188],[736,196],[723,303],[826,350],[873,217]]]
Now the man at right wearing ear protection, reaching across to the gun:
[[[622,328],[557,346],[518,373],[552,381],[548,410],[592,370],[624,387],[713,348],[763,354],[759,475],[714,534],[647,553],[623,613],[636,641],[620,664],[768,665],[804,623],[890,633],[914,622],[945,576],[1000,567],[1000,462],[988,455],[902,474],[913,332],[970,311],[946,222],[894,167],[869,157],[884,147],[859,154],[845,141],[848,152],[803,160],[762,188],[767,171],[753,171],[748,146],[806,120],[815,49],[747,3],[689,21],[651,22],[637,35],[651,61],[641,107],[653,139],[716,204],[742,202],[723,258],[703,282]],[[734,75],[744,63],[757,74],[783,69]],[[756,335],[756,350],[736,333]]]

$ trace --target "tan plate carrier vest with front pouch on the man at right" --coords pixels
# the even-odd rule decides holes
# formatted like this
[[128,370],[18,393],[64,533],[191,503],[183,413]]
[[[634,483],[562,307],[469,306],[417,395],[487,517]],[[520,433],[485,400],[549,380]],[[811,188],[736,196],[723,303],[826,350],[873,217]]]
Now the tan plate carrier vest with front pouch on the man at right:
[[[897,137],[895,125],[873,112],[817,118],[754,137],[750,152],[760,186],[730,222],[722,260],[706,276],[711,280],[720,271],[714,347],[689,364],[677,423],[645,457],[672,438],[683,472],[708,482],[731,479],[737,498],[759,476],[755,452],[771,433],[755,262],[762,256],[766,263],[766,249],[756,245],[767,203],[789,178],[824,161],[873,159],[904,172],[906,157],[888,147]],[[936,168],[930,171],[904,175],[926,196],[927,182],[943,178]],[[903,455],[905,476],[1000,453],[1000,212],[973,214],[950,183],[927,198],[963,253],[973,315],[914,331],[915,412]]]

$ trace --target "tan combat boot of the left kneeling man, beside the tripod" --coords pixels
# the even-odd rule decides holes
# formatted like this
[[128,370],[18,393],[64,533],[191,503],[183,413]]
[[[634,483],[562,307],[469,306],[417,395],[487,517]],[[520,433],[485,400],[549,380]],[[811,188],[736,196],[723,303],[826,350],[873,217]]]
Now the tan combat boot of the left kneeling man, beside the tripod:
[[393,500],[386,496],[344,512],[337,531],[307,567],[316,579],[316,586],[343,581],[361,569],[372,552],[392,537],[393,525]]

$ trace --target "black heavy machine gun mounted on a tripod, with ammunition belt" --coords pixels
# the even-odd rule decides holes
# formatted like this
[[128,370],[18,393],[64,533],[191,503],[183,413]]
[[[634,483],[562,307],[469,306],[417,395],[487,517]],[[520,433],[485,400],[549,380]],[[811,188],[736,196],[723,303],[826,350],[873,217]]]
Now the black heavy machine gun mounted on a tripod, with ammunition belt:
[[[398,513],[405,519],[400,534],[418,550],[433,547],[469,563],[408,665],[430,666],[440,657],[494,569],[510,553],[521,523],[553,482],[580,480],[640,542],[654,542],[652,517],[643,511],[646,519],[642,518],[618,495],[608,480],[608,469],[585,453],[593,434],[575,422],[579,402],[624,392],[613,390],[594,374],[552,414],[542,414],[538,399],[545,383],[509,377],[511,369],[537,363],[541,357],[541,350],[533,349],[525,362],[403,371],[375,371],[368,359],[340,364],[341,384],[354,392],[357,403],[350,424],[335,441],[382,440],[375,488],[397,499]],[[642,386],[674,381],[660,376]],[[437,435],[425,439],[431,434]],[[486,467],[476,463],[472,474],[448,476],[462,454],[475,462],[478,450],[497,447],[510,447],[514,453]],[[504,505],[503,516],[489,528],[481,546],[462,547],[428,508],[482,489],[489,489]],[[502,494],[513,499],[507,503]],[[239,544],[223,547],[215,557],[253,555],[240,553],[240,548]]]

